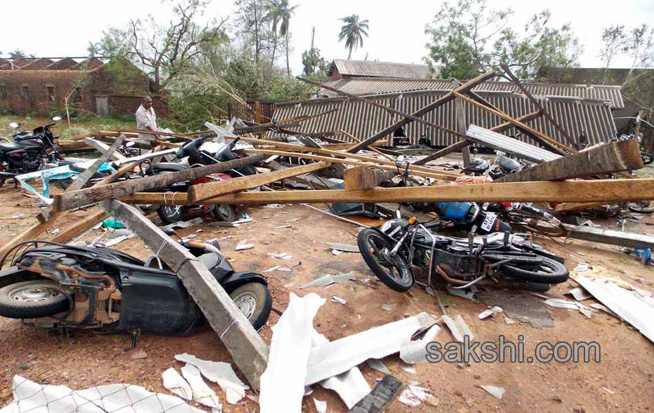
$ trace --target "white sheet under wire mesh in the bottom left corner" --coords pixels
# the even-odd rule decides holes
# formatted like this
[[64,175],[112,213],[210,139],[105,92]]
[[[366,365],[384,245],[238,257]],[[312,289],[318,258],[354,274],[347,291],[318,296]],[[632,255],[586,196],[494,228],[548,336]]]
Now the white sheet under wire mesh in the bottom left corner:
[[[138,385],[109,384],[85,390],[72,390],[65,385],[41,385],[21,376],[14,376],[14,400],[0,412],[118,412],[131,413],[204,413],[170,394],[153,393]],[[134,403],[135,400],[140,401]]]

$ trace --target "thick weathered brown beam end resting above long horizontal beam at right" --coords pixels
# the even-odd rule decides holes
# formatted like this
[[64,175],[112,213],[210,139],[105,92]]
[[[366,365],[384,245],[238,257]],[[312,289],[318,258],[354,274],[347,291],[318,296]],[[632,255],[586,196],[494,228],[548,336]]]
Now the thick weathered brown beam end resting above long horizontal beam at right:
[[643,167],[637,140],[620,140],[587,151],[542,162],[503,176],[495,182],[526,182],[586,178]]

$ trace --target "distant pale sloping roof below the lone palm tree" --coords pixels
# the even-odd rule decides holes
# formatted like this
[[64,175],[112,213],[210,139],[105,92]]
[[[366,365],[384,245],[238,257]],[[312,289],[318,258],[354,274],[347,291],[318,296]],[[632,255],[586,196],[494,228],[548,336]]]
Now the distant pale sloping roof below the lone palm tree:
[[329,74],[333,72],[334,67],[338,69],[341,75],[345,76],[425,78],[429,74],[428,65],[411,65],[408,63],[334,59],[329,67]]

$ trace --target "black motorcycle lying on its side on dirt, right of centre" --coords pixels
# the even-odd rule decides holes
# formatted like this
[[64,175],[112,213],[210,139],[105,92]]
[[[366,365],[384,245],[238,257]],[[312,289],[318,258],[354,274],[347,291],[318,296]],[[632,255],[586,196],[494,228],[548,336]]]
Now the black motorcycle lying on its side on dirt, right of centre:
[[433,233],[416,218],[397,217],[381,226],[363,229],[357,244],[370,270],[389,288],[404,292],[414,284],[413,266],[432,275],[438,273],[467,288],[483,279],[547,290],[549,284],[565,282],[569,271],[562,258],[536,244],[526,234],[493,233],[487,237],[470,234],[468,239]]

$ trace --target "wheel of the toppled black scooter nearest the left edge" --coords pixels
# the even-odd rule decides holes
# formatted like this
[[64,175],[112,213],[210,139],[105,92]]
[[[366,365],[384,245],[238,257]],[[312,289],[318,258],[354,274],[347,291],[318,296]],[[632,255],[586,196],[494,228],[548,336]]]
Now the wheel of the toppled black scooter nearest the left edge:
[[67,310],[68,298],[59,283],[33,279],[0,288],[0,316],[14,319],[48,317]]

